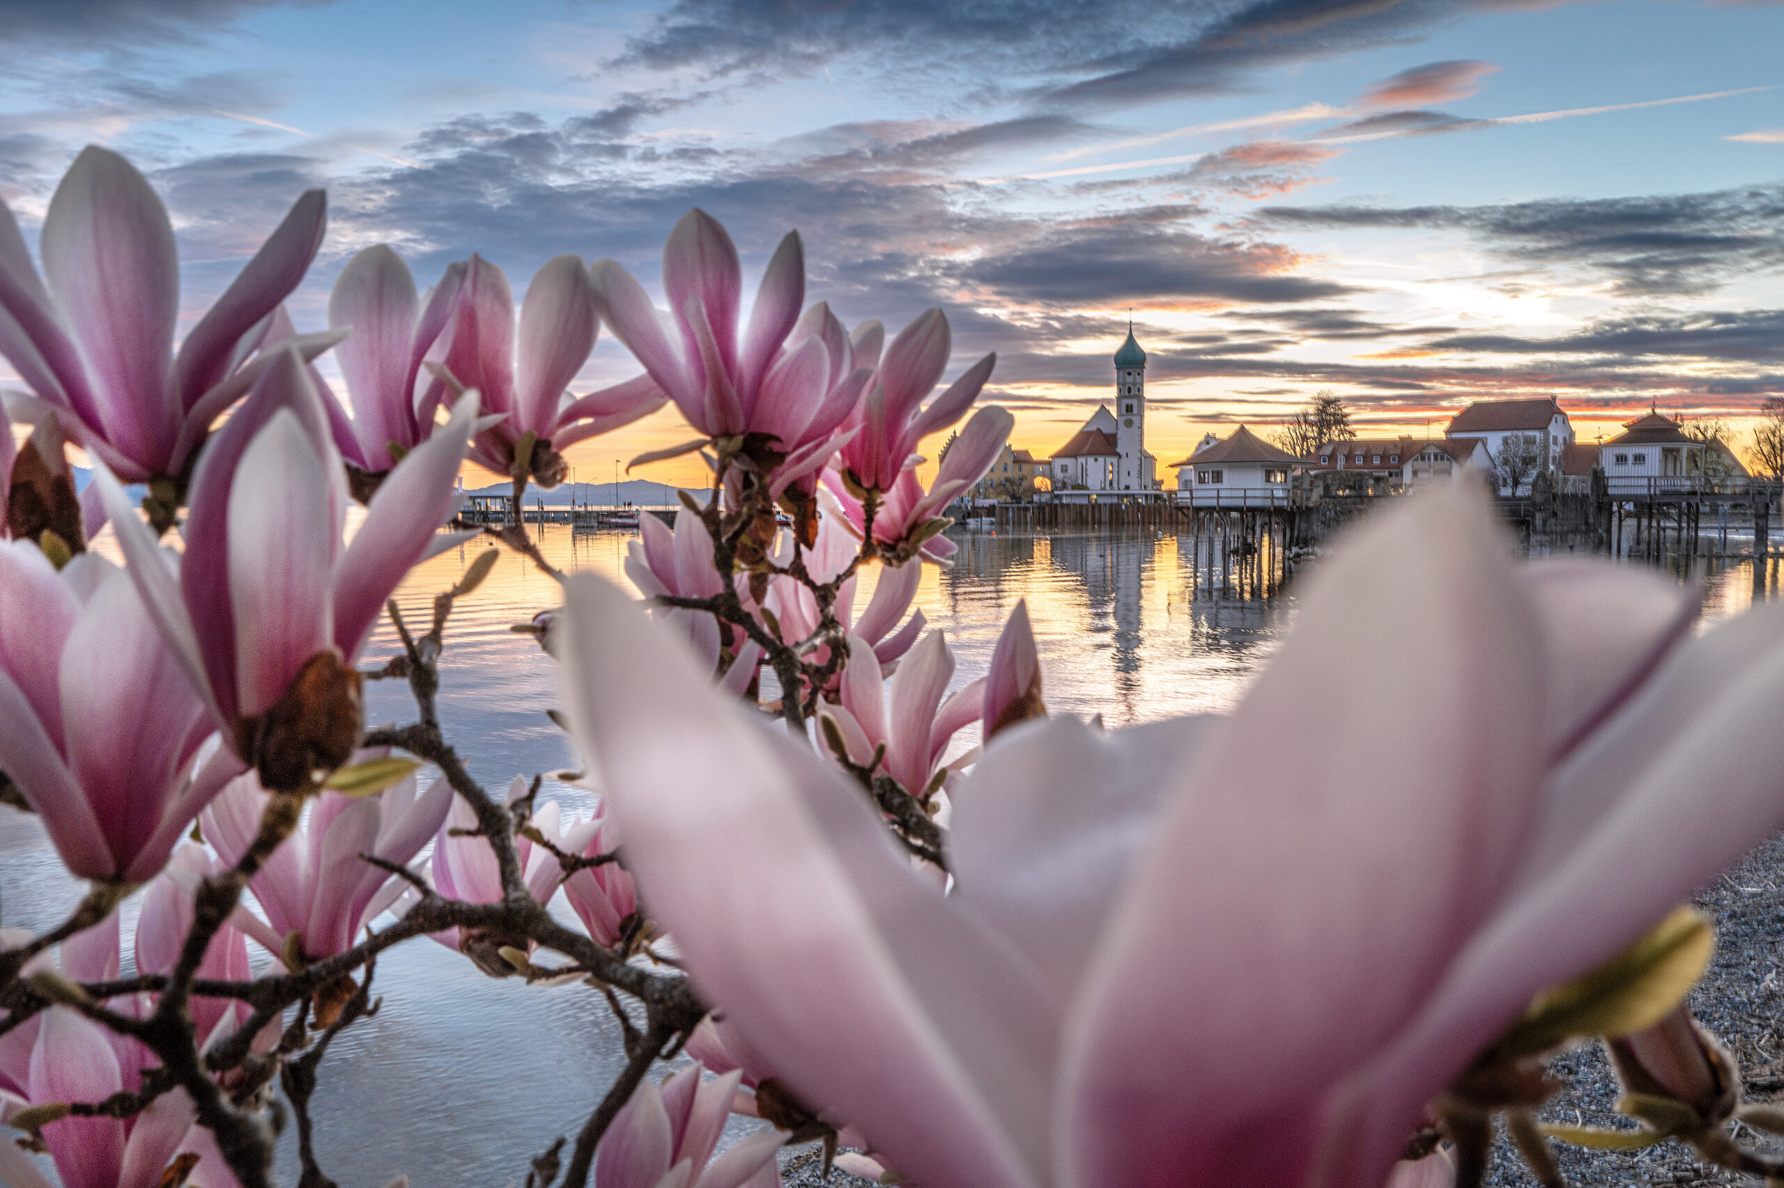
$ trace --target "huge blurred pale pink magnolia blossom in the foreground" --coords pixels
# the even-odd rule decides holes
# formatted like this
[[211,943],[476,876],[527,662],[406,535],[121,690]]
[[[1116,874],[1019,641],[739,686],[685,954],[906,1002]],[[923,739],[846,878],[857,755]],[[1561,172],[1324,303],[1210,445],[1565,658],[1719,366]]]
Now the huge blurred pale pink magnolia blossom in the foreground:
[[[562,656],[653,919],[901,1176],[1379,1188],[1536,992],[1784,822],[1784,606],[1693,617],[1656,574],[1513,562],[1468,487],[1408,499],[1311,576],[1233,714],[999,735],[953,792],[946,895],[599,578]],[[1381,655],[1420,664],[1324,694]],[[1370,762],[1406,738],[1445,762]]]

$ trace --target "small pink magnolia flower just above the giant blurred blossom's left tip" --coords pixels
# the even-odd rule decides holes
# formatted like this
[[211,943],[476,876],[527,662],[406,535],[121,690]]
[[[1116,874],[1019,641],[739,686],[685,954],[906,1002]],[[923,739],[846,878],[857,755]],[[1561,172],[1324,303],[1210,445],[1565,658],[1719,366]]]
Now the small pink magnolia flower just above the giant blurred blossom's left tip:
[[[712,533],[692,512],[678,512],[674,530],[655,516],[639,521],[639,539],[626,544],[626,576],[646,598],[714,598],[724,592],[724,578],[712,567]],[[744,605],[749,605],[747,578],[733,578]],[[683,630],[694,649],[717,671],[730,658],[721,685],[733,696],[749,689],[762,658],[762,646],[705,610],[653,605],[651,614]]]

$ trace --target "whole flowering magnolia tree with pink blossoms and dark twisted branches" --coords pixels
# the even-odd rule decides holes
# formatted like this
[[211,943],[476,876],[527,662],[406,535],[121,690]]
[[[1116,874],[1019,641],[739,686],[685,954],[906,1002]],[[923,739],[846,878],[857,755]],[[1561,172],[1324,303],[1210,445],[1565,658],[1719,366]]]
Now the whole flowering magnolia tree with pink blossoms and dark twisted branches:
[[[612,260],[558,257],[516,323],[492,264],[423,300],[373,248],[323,339],[291,332],[296,278],[257,259],[237,282],[253,325],[200,323],[180,359],[209,362],[169,387],[153,191],[89,150],[57,203],[84,230],[46,225],[45,271],[68,319],[98,318],[75,339],[23,241],[0,243],[0,351],[32,387],[9,405],[30,439],[0,458],[0,769],[89,892],[59,928],[0,933],[0,1117],[64,1184],[269,1184],[275,1085],[300,1184],[330,1183],[319,1068],[376,1010],[378,956],[417,936],[612,1006],[626,1065],[567,1159],[539,1136],[541,1188],[762,1188],[780,1147],[814,1142],[929,1188],[1434,1188],[1481,1183],[1495,1115],[1547,1183],[1556,1138],[1784,1176],[1729,1134],[1784,1118],[1741,1104],[1686,1013],[1711,936],[1673,910],[1784,821],[1784,612],[1698,635],[1691,592],[1657,576],[1507,560],[1458,489],[1322,564],[1233,714],[1104,731],[1047,714],[1022,605],[990,671],[949,690],[947,640],[910,606],[954,549],[940,508],[1008,435],[1008,412],[974,410],[994,360],[937,392],[944,314],[887,342],[805,307],[797,235],[747,318],[698,210],[664,252],[669,312]],[[310,239],[278,259],[307,264]],[[78,296],[102,280],[103,301]],[[598,325],[644,371],[573,398]],[[351,414],[310,369],[328,346]],[[558,574],[521,492],[667,400],[712,482],[673,530],[646,519],[646,599]],[[145,441],[189,437],[189,462],[114,433],[168,408]],[[921,444],[963,419],[924,482]],[[86,516],[64,433],[98,469]],[[485,788],[441,728],[453,606],[494,551],[428,623],[391,599],[478,535],[455,523],[467,458],[514,482],[483,533],[564,582],[530,630],[601,790],[587,819],[537,776]],[[143,478],[137,508],[121,483]],[[103,517],[125,567],[84,548]],[[364,655],[380,614],[394,656]],[[1395,649],[1420,676],[1326,701],[1326,672]],[[414,719],[368,730],[382,678]],[[1408,733],[1454,762],[1384,776],[1368,758]],[[558,890],[582,929],[546,910]],[[1543,1058],[1590,1036],[1639,1129],[1534,1120]],[[762,1126],[721,1151],[733,1111]],[[12,1143],[0,1177],[46,1183]]]

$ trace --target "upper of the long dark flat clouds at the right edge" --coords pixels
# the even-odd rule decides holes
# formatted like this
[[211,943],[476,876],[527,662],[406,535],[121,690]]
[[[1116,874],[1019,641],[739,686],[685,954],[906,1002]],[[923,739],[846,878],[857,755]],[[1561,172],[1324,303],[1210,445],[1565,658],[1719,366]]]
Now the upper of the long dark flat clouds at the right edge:
[[1461,230],[1527,264],[1595,271],[1620,296],[1709,293],[1784,268],[1784,186],[1483,207],[1265,207],[1281,230]]

